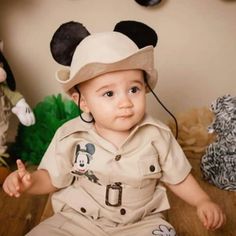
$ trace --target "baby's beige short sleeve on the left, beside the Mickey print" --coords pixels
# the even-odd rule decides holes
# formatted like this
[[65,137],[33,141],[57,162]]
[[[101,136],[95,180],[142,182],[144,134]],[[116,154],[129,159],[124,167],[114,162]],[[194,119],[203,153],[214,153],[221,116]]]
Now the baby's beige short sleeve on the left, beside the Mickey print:
[[55,133],[38,169],[48,171],[52,185],[57,188],[64,188],[73,181],[73,176],[70,174],[72,164],[70,158],[68,158],[69,153],[66,153],[66,148],[63,148],[64,144],[59,136],[60,128]]

